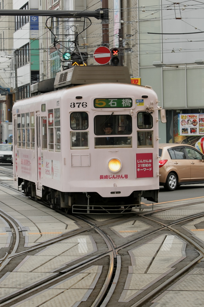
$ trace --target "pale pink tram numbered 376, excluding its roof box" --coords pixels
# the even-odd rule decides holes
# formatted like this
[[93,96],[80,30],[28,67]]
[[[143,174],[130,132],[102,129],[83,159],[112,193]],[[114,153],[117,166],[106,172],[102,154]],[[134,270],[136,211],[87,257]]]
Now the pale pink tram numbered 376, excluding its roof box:
[[129,209],[141,196],[157,202],[156,93],[129,76],[119,83],[117,74],[115,82],[60,89],[60,74],[70,71],[57,74],[58,90],[13,106],[14,185],[66,212]]

